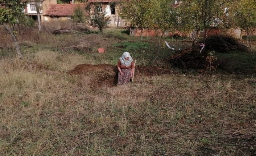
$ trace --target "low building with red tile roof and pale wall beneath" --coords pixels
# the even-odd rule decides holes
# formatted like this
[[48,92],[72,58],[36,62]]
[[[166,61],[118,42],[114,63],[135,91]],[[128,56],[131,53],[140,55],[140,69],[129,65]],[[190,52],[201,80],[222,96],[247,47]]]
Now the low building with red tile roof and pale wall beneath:
[[48,9],[43,13],[43,21],[50,21],[53,19],[68,20],[71,19],[74,10],[76,8],[84,9],[84,15],[89,16],[85,8],[87,7],[86,3],[77,3],[73,4],[49,4]]

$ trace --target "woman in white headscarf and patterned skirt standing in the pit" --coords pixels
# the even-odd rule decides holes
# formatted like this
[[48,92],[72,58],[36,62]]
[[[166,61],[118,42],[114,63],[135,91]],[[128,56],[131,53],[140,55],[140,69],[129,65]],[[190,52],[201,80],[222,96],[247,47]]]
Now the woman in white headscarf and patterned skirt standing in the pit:
[[117,63],[118,81],[117,84],[127,84],[134,72],[134,62],[129,52],[124,52]]

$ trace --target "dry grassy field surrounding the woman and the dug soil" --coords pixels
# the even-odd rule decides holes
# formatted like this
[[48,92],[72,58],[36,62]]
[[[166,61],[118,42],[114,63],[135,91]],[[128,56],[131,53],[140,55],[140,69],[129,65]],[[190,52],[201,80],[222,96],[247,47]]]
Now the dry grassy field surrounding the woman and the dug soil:
[[[105,32],[20,41],[22,61],[0,48],[0,155],[256,155],[255,52],[217,54],[220,68],[209,76],[167,62],[174,52],[157,37]],[[112,87],[92,87],[98,71],[69,72],[115,65],[124,51],[171,72],[135,73],[133,83]]]

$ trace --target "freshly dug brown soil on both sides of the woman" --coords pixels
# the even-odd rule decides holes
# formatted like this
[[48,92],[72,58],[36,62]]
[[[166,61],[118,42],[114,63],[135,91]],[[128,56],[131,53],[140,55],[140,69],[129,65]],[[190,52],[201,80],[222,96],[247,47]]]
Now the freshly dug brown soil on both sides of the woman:
[[[171,74],[172,71],[169,69],[158,68],[154,66],[136,66],[135,67],[135,77],[144,75],[144,76],[153,76],[153,75],[162,75],[162,74]],[[110,64],[79,64],[73,70],[70,71],[70,74],[88,74],[92,76],[91,87],[112,87],[117,83],[117,67]]]

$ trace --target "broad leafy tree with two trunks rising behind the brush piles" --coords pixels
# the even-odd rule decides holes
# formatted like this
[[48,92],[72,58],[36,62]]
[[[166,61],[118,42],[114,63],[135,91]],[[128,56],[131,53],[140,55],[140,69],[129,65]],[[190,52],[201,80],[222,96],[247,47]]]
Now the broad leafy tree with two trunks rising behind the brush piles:
[[231,0],[183,0],[178,7],[183,31],[192,33],[193,47],[201,30],[204,31],[203,42],[208,29],[222,26],[226,15],[225,8]]

